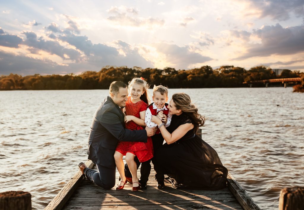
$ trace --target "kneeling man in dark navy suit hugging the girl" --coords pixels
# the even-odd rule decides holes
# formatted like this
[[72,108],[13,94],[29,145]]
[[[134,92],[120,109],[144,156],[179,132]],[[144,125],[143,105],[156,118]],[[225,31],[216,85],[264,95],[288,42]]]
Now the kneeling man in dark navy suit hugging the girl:
[[111,189],[115,185],[114,152],[118,141],[147,142],[147,137],[156,132],[156,128],[149,127],[135,131],[125,128],[124,114],[121,111],[128,100],[125,83],[112,82],[109,92],[110,95],[94,114],[88,140],[88,159],[96,164],[98,171],[89,169],[84,163],[78,165],[88,180],[105,189]]

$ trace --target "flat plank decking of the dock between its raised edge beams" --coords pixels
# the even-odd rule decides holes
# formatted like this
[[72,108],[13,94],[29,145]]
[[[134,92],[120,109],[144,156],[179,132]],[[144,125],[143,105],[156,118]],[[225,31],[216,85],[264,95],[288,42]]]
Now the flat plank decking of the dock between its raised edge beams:
[[[140,170],[137,171],[140,176]],[[104,190],[84,179],[63,209],[243,209],[228,188],[218,191],[178,190],[168,183],[157,189],[153,165],[148,189],[131,191],[130,183],[123,190]],[[118,183],[119,174],[116,172]]]

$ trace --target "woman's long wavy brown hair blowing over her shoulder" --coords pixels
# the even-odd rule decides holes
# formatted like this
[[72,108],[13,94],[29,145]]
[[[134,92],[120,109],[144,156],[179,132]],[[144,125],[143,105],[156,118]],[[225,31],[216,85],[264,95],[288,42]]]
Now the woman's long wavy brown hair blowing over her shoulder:
[[176,109],[180,109],[186,115],[188,115],[193,122],[194,131],[205,124],[205,117],[198,113],[198,108],[191,103],[190,96],[186,93],[175,93],[172,95],[172,100]]

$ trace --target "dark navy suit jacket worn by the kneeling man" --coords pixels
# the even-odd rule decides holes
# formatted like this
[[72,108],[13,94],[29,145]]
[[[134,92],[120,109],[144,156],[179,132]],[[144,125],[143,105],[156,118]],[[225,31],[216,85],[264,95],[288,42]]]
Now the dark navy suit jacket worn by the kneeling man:
[[147,142],[146,130],[126,129],[124,115],[108,96],[94,114],[88,140],[88,159],[115,168],[114,152],[118,141]]

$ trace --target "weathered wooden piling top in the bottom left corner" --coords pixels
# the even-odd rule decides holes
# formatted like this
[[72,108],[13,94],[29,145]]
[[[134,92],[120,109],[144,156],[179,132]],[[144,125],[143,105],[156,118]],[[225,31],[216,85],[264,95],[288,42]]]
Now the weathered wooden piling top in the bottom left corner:
[[31,210],[31,194],[23,191],[7,191],[0,193],[1,210]]

